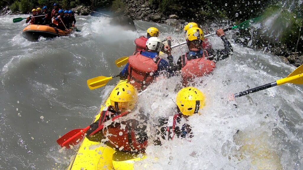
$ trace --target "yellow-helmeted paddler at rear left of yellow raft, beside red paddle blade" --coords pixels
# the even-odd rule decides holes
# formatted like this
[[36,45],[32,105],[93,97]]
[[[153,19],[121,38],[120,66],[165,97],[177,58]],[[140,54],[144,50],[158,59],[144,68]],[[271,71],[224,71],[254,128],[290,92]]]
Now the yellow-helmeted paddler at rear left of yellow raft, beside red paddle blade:
[[123,151],[141,152],[147,146],[146,121],[135,109],[138,94],[135,87],[123,83],[109,96],[111,105],[102,110],[100,119],[90,125],[86,137]]

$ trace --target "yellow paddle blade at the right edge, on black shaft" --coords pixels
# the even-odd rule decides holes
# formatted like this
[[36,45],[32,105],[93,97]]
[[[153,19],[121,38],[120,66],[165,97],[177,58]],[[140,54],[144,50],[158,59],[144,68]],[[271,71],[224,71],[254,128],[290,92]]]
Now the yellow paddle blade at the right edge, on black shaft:
[[277,80],[277,85],[285,83],[303,84],[303,65],[295,69],[287,77]]

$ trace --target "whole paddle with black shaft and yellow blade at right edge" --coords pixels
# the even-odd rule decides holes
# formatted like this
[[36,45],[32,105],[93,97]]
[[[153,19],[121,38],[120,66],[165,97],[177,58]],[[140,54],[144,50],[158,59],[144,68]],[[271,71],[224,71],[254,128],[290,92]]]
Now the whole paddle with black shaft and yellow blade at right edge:
[[245,90],[240,93],[235,93],[234,97],[236,98],[236,97],[245,96],[249,93],[255,93],[257,91],[268,89],[270,87],[275,87],[277,85],[279,86],[279,85],[285,84],[285,83],[303,84],[303,65],[301,65],[300,67],[295,69],[291,74],[289,74],[287,77],[285,77],[283,79],[280,79],[275,82],[268,83],[268,84],[265,84],[263,86],[259,86],[259,87],[253,88],[253,89]]

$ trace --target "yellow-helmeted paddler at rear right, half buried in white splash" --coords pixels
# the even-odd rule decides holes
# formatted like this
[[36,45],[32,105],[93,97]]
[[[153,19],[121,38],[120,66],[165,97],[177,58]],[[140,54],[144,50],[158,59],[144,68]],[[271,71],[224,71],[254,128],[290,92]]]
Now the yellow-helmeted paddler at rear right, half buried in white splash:
[[[172,140],[174,137],[193,137],[191,126],[186,122],[189,116],[201,114],[204,100],[204,94],[195,87],[181,89],[176,96],[177,113],[174,116],[159,119],[157,134],[161,133],[162,139],[165,140]],[[161,143],[159,139],[154,142],[157,144]]]

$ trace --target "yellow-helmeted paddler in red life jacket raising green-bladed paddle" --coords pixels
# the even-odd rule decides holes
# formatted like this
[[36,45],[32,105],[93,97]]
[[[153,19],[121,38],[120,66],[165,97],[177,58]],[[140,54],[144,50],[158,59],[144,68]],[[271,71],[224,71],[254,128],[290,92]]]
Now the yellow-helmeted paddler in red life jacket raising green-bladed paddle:
[[174,72],[181,72],[183,86],[188,86],[195,77],[202,77],[210,74],[215,69],[215,62],[224,60],[232,54],[232,47],[226,39],[223,29],[216,31],[224,42],[224,50],[207,49],[203,50],[202,43],[204,34],[200,28],[193,27],[186,32],[186,41],[189,51],[180,56],[177,65],[173,65],[173,59],[168,61]]

